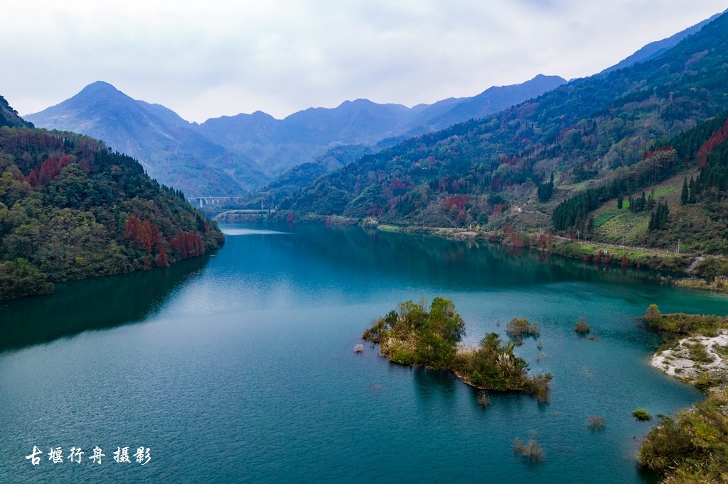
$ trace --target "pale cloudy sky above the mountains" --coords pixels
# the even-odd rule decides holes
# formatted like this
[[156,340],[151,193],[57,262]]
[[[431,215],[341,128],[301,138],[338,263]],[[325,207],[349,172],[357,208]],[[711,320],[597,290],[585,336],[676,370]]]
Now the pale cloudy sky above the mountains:
[[539,73],[590,76],[728,0],[4,2],[0,94],[21,115],[106,81],[188,121],[407,106]]

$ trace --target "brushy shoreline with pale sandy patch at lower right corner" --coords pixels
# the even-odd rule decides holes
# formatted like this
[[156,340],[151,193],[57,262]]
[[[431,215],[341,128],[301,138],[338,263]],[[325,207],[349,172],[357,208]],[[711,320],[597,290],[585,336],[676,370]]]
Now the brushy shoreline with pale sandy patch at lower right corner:
[[663,483],[728,481],[728,318],[662,314],[650,304],[642,317],[668,339],[652,365],[709,392],[676,419],[659,416],[640,446],[638,461]]

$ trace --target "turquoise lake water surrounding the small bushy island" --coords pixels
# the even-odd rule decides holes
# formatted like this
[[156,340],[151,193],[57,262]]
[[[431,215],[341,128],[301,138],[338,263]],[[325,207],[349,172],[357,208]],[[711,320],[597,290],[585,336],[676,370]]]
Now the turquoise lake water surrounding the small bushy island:
[[[727,312],[727,299],[654,273],[356,227],[225,227],[213,257],[79,281],[0,307],[0,482],[641,483],[649,423],[702,395],[649,366],[662,312]],[[406,299],[451,298],[467,342],[514,316],[540,324],[551,403],[475,392],[444,373],[353,351]],[[579,316],[596,340],[580,338]],[[499,324],[498,322],[502,324]],[[537,356],[540,358],[537,360]],[[587,427],[590,415],[606,428]],[[524,461],[515,437],[546,459]],[[36,445],[41,464],[25,459]],[[97,446],[102,464],[89,456]],[[68,461],[82,447],[82,464]],[[62,447],[64,461],[48,461]],[[142,466],[118,447],[149,448]]]

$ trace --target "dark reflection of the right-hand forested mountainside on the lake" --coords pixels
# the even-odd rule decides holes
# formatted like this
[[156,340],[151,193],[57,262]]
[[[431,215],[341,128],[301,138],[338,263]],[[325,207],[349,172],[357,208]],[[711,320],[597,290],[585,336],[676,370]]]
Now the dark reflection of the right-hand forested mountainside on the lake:
[[272,238],[270,245],[290,257],[313,259],[320,265],[343,266],[352,271],[378,270],[413,280],[434,276],[456,288],[501,288],[574,280],[641,285],[659,279],[654,271],[619,270],[527,249],[504,250],[476,241],[358,227],[333,226],[324,231],[322,227],[297,225],[295,231],[302,236]]

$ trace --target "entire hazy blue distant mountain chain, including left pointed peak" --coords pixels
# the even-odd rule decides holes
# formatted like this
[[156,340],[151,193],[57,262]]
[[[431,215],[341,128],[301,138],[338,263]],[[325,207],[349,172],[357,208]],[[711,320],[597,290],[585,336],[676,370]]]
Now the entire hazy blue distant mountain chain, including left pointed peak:
[[[26,118],[47,129],[105,140],[137,158],[159,182],[188,195],[240,195],[338,146],[373,146],[388,137],[424,133],[459,118],[495,112],[563,82],[558,76],[539,75],[523,84],[491,87],[475,97],[414,108],[358,99],[336,108],[309,108],[282,120],[256,111],[196,124],[98,81]],[[328,166],[327,170],[336,164]]]

